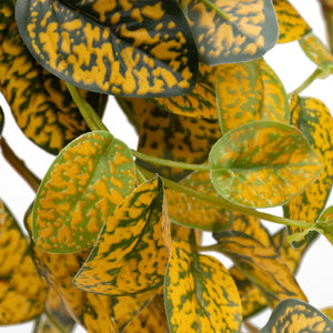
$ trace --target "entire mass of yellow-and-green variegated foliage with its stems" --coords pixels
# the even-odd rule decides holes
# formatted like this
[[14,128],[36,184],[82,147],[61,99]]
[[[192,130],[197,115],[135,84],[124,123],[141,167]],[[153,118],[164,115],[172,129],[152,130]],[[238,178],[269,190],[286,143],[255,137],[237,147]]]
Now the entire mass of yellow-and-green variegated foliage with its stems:
[[[289,94],[263,58],[276,42],[316,64]],[[0,325],[256,332],[270,306],[262,333],[332,332],[294,278],[320,234],[333,243],[333,119],[300,95],[332,73],[287,0],[1,0],[0,91],[54,161],[40,181],[1,138],[37,195],[27,232],[0,204]],[[102,122],[111,95],[138,150]],[[283,216],[256,210],[270,206]]]

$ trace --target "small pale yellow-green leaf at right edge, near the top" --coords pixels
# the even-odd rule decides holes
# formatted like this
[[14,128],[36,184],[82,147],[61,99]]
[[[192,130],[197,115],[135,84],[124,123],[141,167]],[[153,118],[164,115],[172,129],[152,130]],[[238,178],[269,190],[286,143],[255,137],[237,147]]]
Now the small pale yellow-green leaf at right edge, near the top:
[[307,33],[299,43],[307,58],[321,70],[333,73],[333,54],[315,34]]

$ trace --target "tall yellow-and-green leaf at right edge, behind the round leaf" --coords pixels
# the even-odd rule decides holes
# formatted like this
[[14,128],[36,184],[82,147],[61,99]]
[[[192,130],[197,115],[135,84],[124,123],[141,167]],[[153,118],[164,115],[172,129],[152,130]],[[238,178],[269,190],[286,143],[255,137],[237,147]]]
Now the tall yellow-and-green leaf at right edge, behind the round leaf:
[[[291,110],[291,123],[302,131],[321,158],[323,170],[319,179],[301,195],[283,206],[283,212],[287,219],[314,223],[325,208],[333,182],[333,118],[325,104],[314,98],[294,95]],[[302,231],[299,228],[290,228],[290,233]],[[293,242],[293,246],[302,245],[304,240],[312,239],[314,234],[309,233],[303,240]]]

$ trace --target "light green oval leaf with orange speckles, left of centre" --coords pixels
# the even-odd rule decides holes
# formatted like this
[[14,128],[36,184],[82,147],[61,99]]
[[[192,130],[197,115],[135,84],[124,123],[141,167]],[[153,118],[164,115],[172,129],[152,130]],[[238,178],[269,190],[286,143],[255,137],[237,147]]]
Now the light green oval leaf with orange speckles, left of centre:
[[93,245],[103,223],[134,189],[130,150],[95,131],[72,141],[51,164],[37,193],[32,235],[53,253]]

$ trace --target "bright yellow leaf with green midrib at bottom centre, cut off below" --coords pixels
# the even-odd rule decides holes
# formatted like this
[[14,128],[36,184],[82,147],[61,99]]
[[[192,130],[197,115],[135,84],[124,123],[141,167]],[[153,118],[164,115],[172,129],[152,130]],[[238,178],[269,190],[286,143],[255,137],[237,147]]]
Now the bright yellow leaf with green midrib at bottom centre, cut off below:
[[164,284],[171,332],[239,332],[241,302],[228,270],[214,258],[173,241]]

